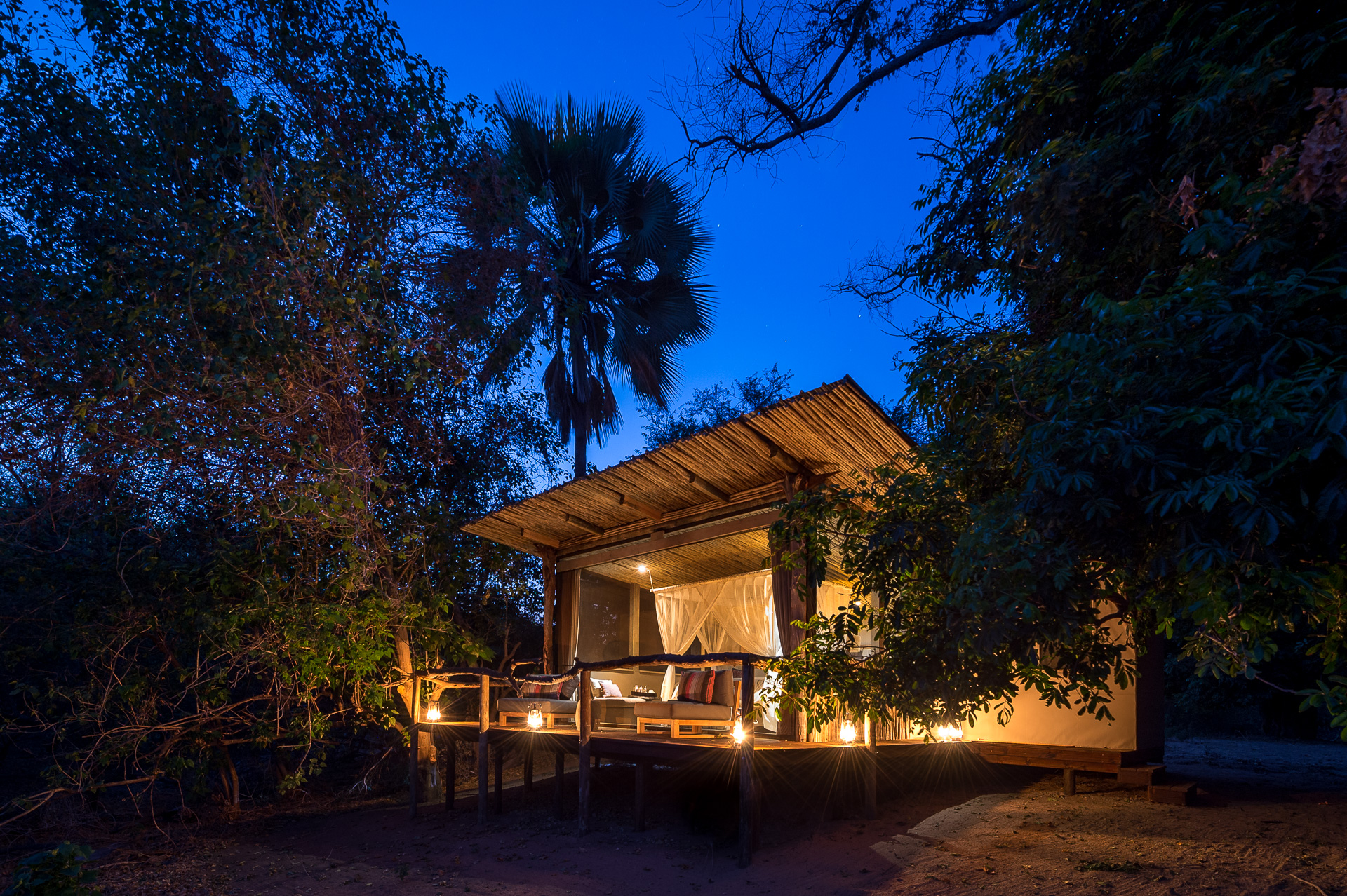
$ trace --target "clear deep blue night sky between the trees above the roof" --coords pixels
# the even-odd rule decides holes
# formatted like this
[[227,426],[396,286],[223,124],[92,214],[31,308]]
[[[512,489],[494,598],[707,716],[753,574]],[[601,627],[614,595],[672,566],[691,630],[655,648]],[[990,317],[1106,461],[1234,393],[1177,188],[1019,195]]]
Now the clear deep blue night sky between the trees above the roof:
[[[620,94],[644,109],[649,153],[683,153],[682,130],[655,93],[665,73],[683,74],[691,63],[691,35],[710,24],[704,7],[392,0],[388,8],[408,48],[449,73],[451,96],[492,98],[512,81],[548,97]],[[913,114],[917,96],[915,81],[893,79],[831,132],[842,144],[818,141],[814,159],[793,155],[772,172],[745,168],[713,186],[702,217],[713,237],[704,280],[714,288],[715,331],[682,354],[680,401],[773,363],[793,371],[796,389],[851,374],[874,397],[902,391],[893,358],[904,342],[827,284],[877,242],[893,245],[917,225],[912,200],[931,174],[917,137],[939,126]],[[894,319],[905,324],[925,309],[911,300]],[[590,447],[599,468],[643,445],[644,418],[625,390],[620,406],[622,431]]]

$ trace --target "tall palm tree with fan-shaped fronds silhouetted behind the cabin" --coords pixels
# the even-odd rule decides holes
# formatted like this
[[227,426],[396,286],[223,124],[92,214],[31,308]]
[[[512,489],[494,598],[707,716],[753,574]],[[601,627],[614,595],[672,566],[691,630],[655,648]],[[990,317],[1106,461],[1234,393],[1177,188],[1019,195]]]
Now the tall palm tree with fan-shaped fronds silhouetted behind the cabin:
[[612,375],[665,409],[676,351],[710,334],[695,283],[707,235],[686,187],[641,153],[634,106],[547,104],[521,89],[496,100],[496,151],[529,196],[527,238],[544,260],[509,330],[551,354],[547,410],[563,441],[574,435],[583,476],[590,439],[602,445],[621,425]]

